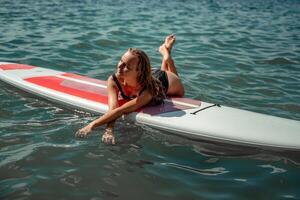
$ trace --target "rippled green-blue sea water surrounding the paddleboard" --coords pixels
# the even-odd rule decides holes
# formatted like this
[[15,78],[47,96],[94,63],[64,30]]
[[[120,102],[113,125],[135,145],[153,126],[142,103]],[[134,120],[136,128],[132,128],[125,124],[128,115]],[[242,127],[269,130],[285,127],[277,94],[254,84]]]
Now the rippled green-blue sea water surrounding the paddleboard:
[[[129,47],[159,67],[174,33],[186,97],[300,120],[299,21],[297,0],[0,0],[0,61],[105,80]],[[107,146],[74,137],[97,116],[0,88],[0,199],[300,199],[299,152],[126,120]]]

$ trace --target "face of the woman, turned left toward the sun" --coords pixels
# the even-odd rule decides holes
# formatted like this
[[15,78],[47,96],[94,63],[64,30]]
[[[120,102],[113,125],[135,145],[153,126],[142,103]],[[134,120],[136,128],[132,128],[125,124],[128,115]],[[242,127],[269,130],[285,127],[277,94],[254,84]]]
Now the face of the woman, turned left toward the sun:
[[117,65],[117,76],[136,79],[138,75],[137,66],[138,58],[127,51]]

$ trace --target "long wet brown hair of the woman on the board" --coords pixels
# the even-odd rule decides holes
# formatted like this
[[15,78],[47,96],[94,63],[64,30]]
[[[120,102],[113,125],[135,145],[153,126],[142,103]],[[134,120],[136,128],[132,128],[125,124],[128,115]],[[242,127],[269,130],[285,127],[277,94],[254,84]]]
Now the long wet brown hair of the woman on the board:
[[152,76],[150,60],[147,54],[136,48],[129,48],[128,52],[138,58],[138,77],[137,82],[141,88],[147,89],[152,95],[151,104],[160,104],[166,98],[163,86],[159,80]]

